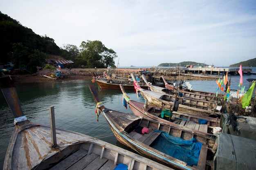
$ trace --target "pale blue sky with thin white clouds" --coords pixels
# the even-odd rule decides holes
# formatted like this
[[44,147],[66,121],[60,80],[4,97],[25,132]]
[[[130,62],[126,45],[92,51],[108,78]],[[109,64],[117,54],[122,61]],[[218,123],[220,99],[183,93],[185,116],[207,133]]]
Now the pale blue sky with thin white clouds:
[[0,11],[60,48],[99,40],[118,67],[256,58],[256,0],[1,0]]

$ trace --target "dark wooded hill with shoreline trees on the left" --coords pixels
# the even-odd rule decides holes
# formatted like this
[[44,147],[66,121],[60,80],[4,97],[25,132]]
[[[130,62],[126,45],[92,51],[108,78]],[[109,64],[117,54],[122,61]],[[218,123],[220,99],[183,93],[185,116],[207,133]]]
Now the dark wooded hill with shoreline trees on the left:
[[13,68],[26,68],[35,73],[36,66],[43,66],[49,55],[72,60],[77,68],[115,67],[117,57],[114,50],[106,48],[99,40],[83,41],[80,49],[72,44],[60,48],[54,39],[37,35],[0,11],[0,62],[12,62]]

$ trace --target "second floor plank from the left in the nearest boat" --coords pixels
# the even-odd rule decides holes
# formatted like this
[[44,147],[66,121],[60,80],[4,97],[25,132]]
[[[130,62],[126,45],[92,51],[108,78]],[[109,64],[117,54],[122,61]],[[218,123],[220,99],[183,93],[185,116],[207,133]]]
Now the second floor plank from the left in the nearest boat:
[[79,161],[77,161],[73,166],[68,168],[67,170],[82,170],[86,166],[88,166],[94,159],[99,157],[99,155],[96,155],[95,153],[92,153],[90,155],[86,155]]

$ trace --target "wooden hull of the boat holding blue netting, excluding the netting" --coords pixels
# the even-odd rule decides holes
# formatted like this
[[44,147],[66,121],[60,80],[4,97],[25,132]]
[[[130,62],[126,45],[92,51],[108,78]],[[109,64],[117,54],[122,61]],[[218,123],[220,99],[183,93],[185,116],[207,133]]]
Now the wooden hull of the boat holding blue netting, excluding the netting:
[[[95,87],[93,84],[89,85],[89,87],[95,101],[99,104],[100,100],[99,97],[95,94],[97,93]],[[105,117],[116,138],[121,143],[139,152],[144,157],[178,170],[205,168],[207,147],[212,148],[215,144],[215,137],[212,135],[203,135],[202,133],[198,133],[198,131],[195,130],[180,128],[178,125],[170,126],[159,121],[154,121],[152,119],[146,119],[136,115],[121,113],[105,108],[102,105],[98,106],[98,104],[97,110]],[[150,129],[150,133],[140,135],[139,133],[133,131],[135,130],[136,126],[147,127]],[[188,166],[184,161],[175,159],[174,157],[166,155],[165,153],[150,147],[150,144],[152,144],[155,139],[157,139],[158,135],[160,135],[158,132],[153,133],[155,130],[162,130],[168,132],[168,134],[174,137],[181,137],[185,140],[191,140],[192,138],[195,138],[198,142],[201,142],[203,146],[200,152],[198,167],[194,168]]]

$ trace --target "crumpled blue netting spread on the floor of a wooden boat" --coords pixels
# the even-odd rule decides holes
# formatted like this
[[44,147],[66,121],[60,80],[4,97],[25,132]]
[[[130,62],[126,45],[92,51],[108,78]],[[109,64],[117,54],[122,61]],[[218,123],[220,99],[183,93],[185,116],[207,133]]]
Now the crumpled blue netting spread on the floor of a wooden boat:
[[161,135],[150,145],[152,148],[184,161],[189,166],[197,166],[202,143],[195,138],[184,140],[180,137],[173,137],[161,130],[154,132],[161,132]]

